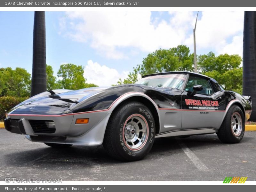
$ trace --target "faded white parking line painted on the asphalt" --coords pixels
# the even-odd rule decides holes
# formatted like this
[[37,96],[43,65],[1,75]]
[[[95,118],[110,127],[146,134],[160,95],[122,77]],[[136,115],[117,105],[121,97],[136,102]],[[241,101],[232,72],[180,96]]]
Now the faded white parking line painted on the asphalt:
[[187,147],[187,145],[185,145],[185,143],[181,140],[177,140],[177,142],[199,171],[209,171],[208,167],[205,166],[205,164]]

